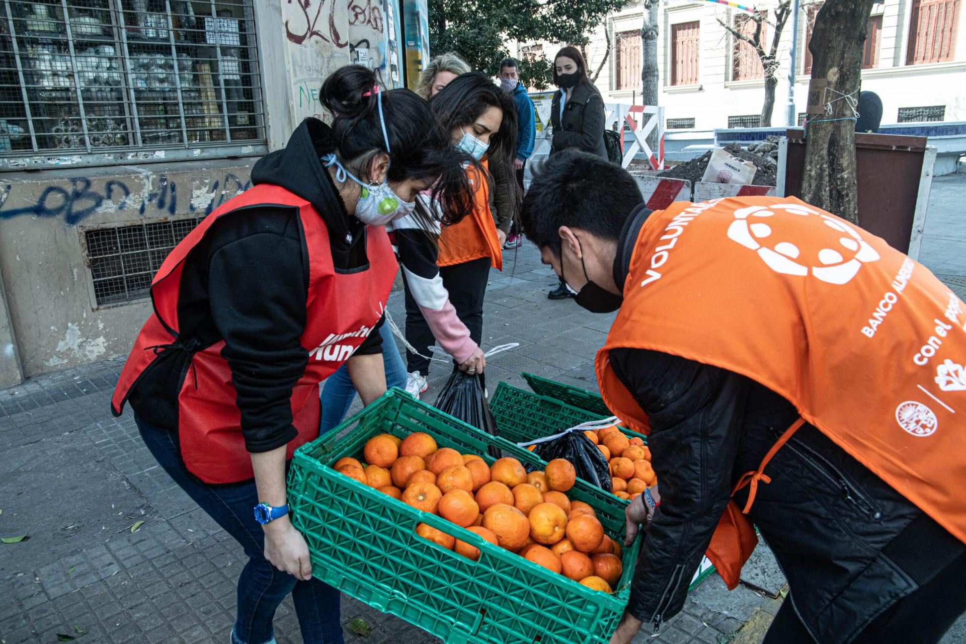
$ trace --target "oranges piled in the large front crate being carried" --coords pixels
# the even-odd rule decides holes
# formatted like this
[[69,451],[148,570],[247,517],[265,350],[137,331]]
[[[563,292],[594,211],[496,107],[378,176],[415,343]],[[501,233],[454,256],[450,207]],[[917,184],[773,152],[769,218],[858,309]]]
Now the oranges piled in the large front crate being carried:
[[[620,546],[596,513],[567,494],[574,466],[555,459],[527,474],[516,459],[487,465],[475,454],[438,447],[429,434],[379,434],[362,451],[367,464],[344,458],[333,467],[417,510],[439,515],[496,546],[594,590],[611,593],[623,573]],[[475,561],[480,551],[426,523],[416,533]]]

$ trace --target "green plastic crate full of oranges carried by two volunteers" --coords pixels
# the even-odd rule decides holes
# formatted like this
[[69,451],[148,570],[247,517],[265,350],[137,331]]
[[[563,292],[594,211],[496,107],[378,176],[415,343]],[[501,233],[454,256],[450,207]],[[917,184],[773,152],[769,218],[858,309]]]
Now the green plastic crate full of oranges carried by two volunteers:
[[[624,574],[616,592],[607,595],[330,467],[342,457],[359,458],[365,442],[376,434],[403,437],[412,432],[431,434],[440,447],[478,454],[488,463],[494,461],[487,454],[489,445],[525,464],[541,463],[502,438],[483,434],[392,389],[296,451],[289,474],[289,506],[293,523],[309,546],[313,574],[447,644],[608,642],[630,595],[640,540],[624,549]],[[607,533],[622,539],[622,505],[601,502],[602,490],[582,481],[567,494],[590,504]],[[479,560],[469,561],[418,537],[415,527],[420,522],[478,547]]]

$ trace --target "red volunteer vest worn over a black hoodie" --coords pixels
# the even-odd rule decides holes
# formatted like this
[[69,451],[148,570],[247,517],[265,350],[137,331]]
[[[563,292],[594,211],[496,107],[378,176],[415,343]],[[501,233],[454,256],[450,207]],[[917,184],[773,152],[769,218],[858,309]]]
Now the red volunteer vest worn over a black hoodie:
[[[155,313],[134,342],[114,390],[111,406],[115,415],[121,414],[131,387],[156,359],[155,348],[178,342],[178,299],[185,259],[216,219],[263,204],[298,208],[309,256],[307,323],[300,338],[309,358],[292,390],[292,418],[298,437],[288,444],[286,458],[291,459],[299,445],[318,437],[319,382],[338,369],[379,322],[397,264],[385,229],[367,226],[368,268],[336,272],[325,221],[309,202],[270,184],[256,185],[214,210],[164,260],[151,285]],[[237,483],[253,476],[231,369],[221,357],[224,346],[222,340],[194,353],[178,398],[178,437],[185,466],[211,484]]]

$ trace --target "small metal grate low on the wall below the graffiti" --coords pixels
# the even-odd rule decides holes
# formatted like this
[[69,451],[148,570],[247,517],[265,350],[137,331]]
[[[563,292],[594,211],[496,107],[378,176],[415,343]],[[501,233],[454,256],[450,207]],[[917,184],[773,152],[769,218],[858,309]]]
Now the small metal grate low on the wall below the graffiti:
[[147,297],[164,258],[200,221],[200,217],[190,217],[85,231],[98,306]]

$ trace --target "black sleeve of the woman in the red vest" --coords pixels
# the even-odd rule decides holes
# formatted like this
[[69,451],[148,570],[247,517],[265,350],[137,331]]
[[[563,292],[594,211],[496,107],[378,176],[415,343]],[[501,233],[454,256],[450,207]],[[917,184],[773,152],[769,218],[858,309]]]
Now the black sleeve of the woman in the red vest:
[[305,373],[307,284],[298,238],[257,233],[213,252],[212,319],[225,341],[249,452],[268,452],[298,435],[292,388]]

